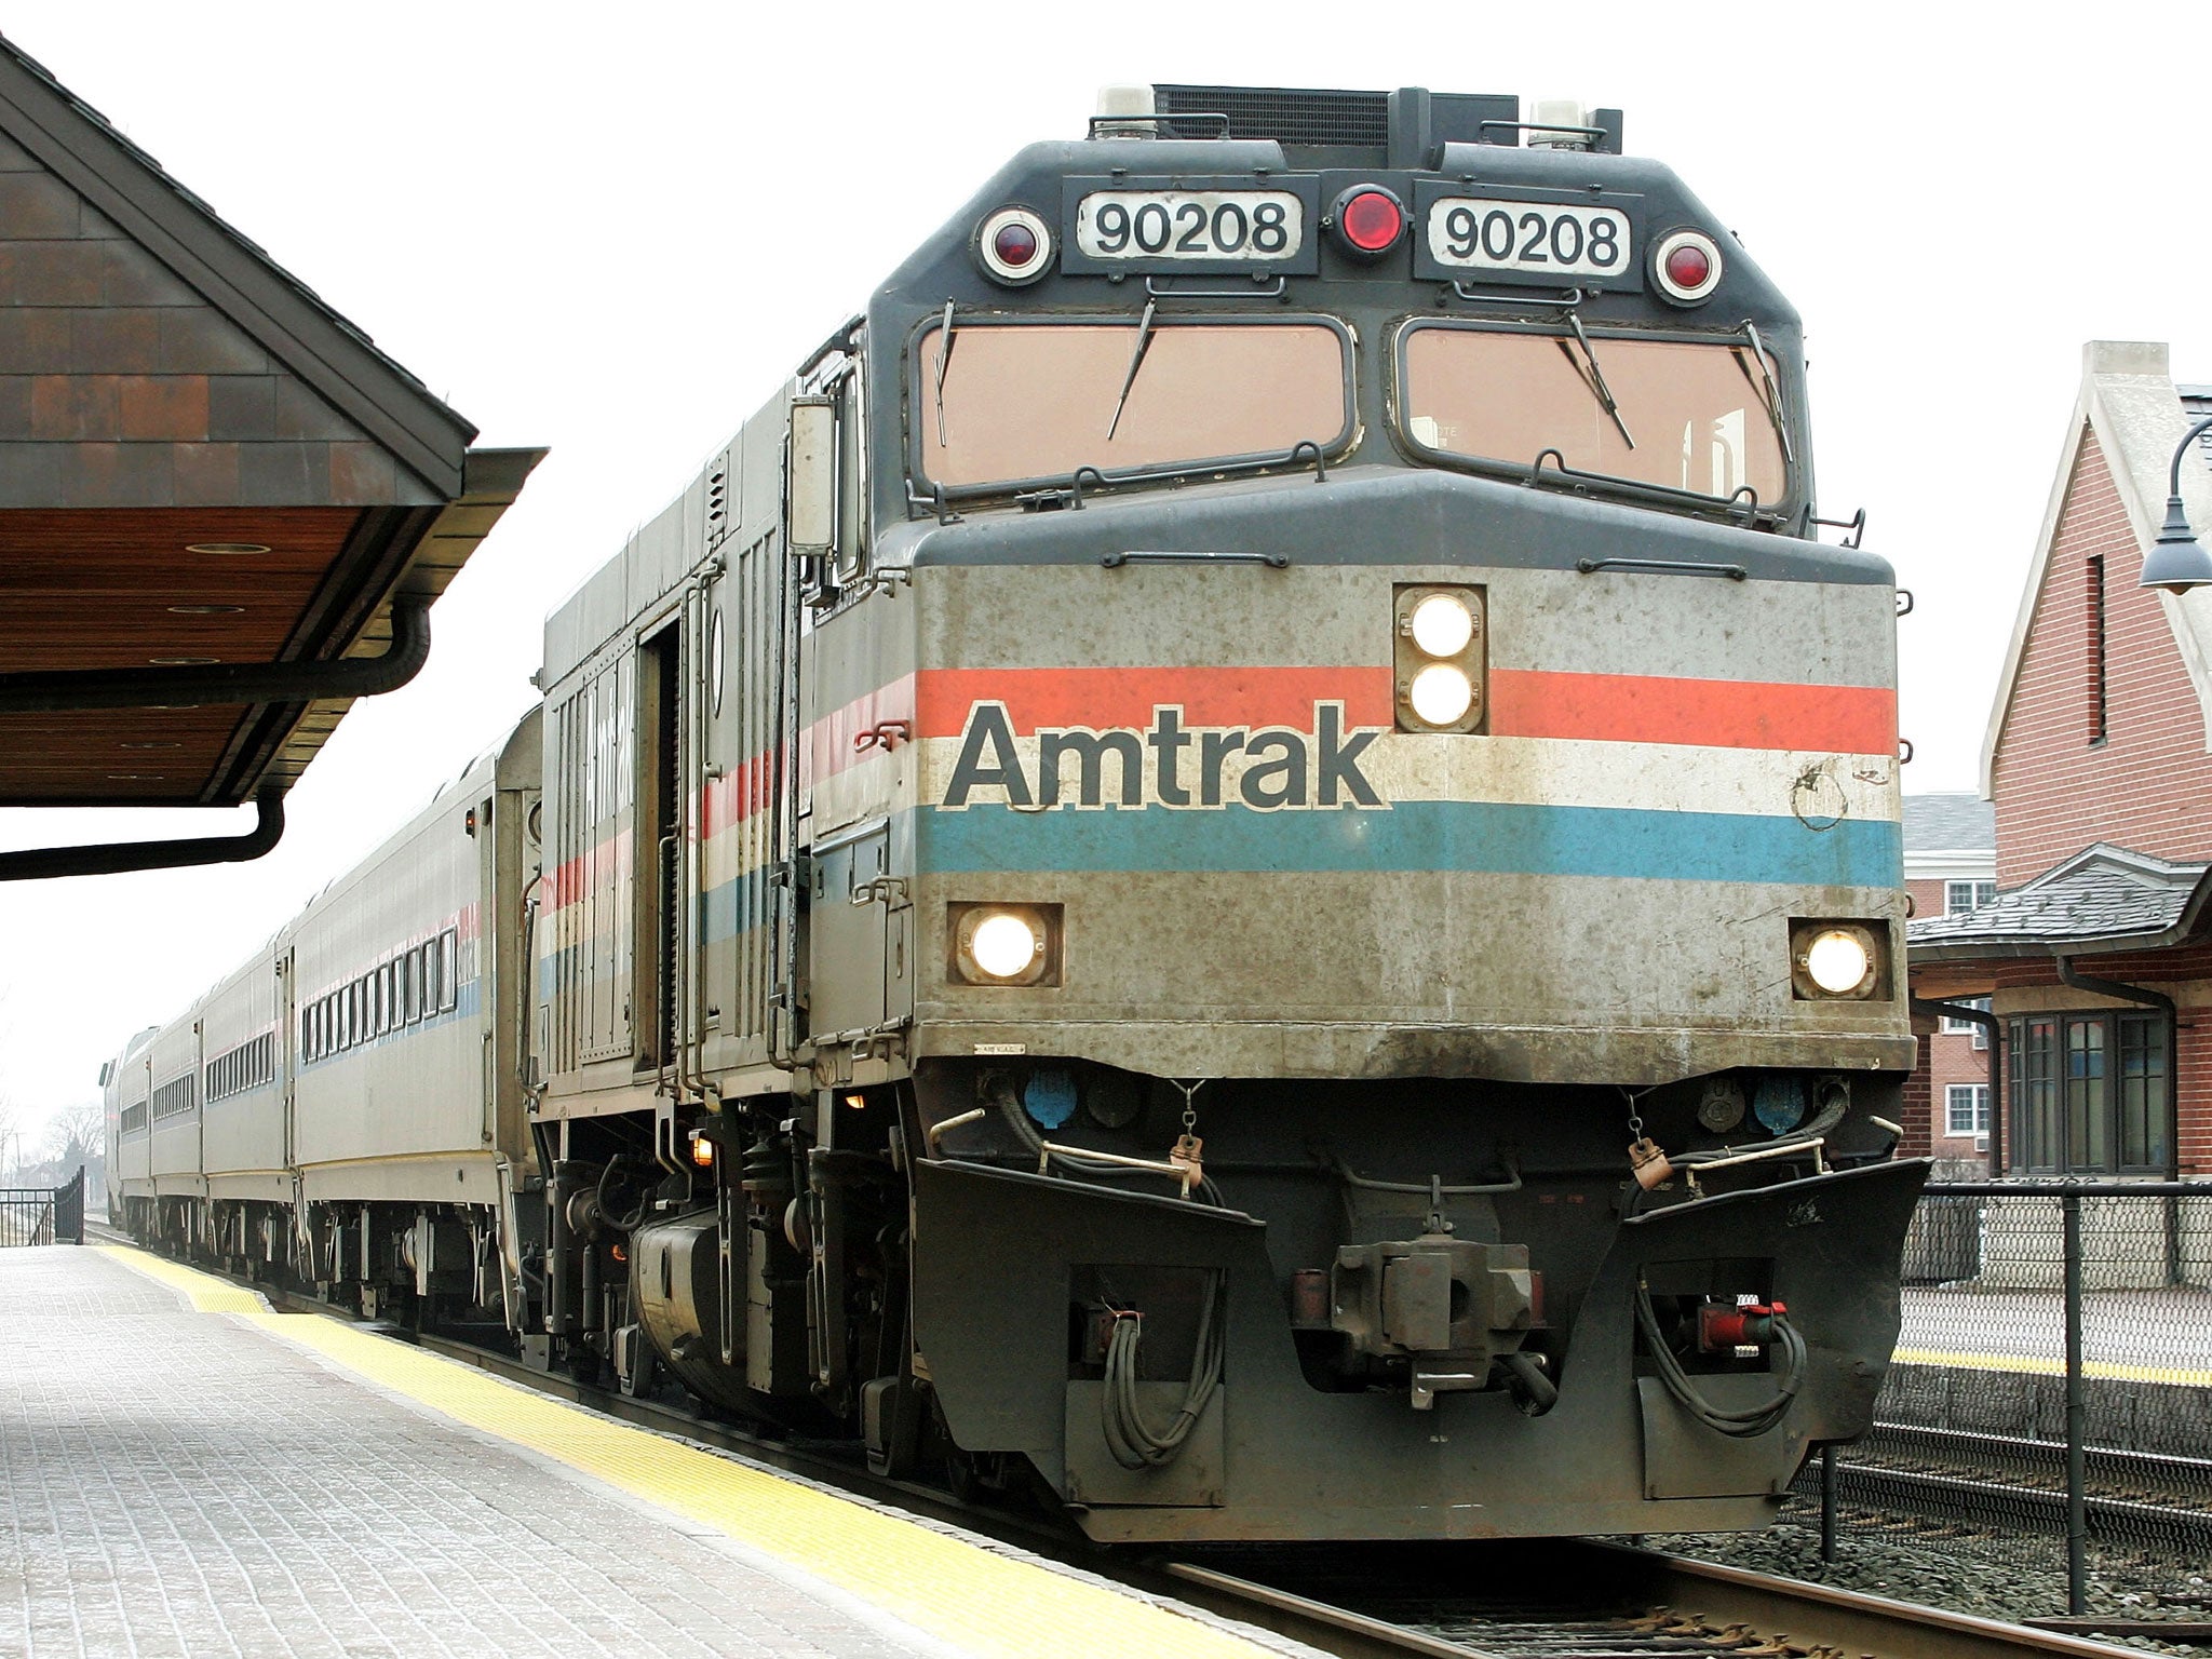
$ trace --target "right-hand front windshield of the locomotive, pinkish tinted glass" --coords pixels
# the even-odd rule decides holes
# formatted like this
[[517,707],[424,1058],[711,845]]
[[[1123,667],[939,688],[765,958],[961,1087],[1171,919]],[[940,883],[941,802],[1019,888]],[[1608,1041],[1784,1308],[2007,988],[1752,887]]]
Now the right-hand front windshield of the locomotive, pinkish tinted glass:
[[[1790,469],[1750,343],[1502,334],[1413,325],[1402,336],[1407,436],[1464,460],[1528,467],[1557,449],[1575,471],[1761,502]],[[1610,398],[1610,407],[1608,407]]]

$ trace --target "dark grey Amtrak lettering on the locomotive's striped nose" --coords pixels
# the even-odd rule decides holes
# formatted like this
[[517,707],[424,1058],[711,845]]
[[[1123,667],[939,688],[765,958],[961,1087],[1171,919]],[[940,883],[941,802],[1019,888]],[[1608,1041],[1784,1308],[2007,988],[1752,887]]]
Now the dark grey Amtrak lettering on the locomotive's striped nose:
[[1345,730],[1343,703],[1314,703],[1314,730],[1186,726],[1183,710],[1152,710],[1152,726],[1040,726],[1018,739],[1004,703],[973,703],[945,807],[1387,807],[1360,770],[1380,728]]

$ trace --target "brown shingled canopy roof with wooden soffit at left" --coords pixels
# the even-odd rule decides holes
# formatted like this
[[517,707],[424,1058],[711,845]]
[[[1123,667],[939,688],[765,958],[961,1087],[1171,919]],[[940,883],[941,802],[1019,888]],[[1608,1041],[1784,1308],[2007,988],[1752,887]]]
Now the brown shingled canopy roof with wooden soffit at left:
[[473,438],[0,40],[0,805],[290,787],[544,453]]

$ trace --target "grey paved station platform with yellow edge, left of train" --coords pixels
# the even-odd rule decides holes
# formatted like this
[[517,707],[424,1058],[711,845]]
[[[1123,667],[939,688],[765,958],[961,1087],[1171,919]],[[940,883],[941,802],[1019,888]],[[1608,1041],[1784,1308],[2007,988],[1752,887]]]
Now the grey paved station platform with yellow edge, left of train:
[[137,1250],[0,1334],[0,1655],[1312,1652]]

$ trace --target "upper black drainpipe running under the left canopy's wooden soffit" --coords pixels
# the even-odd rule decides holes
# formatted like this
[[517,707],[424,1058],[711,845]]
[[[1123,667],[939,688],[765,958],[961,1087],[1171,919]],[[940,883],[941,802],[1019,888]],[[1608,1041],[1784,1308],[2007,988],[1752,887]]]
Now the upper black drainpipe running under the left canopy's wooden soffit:
[[0,675],[0,714],[77,708],[210,708],[223,703],[316,703],[380,697],[429,661],[429,599],[392,599],[392,644],[383,657],[334,661],[186,664],[179,668],[62,668]]

